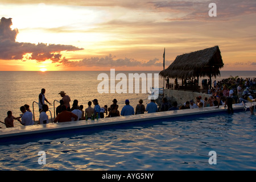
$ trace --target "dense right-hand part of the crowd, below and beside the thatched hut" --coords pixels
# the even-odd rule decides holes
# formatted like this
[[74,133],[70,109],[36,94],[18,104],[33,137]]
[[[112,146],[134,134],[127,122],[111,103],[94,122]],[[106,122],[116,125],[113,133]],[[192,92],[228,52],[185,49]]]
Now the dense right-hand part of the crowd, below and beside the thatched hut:
[[[167,99],[163,98],[163,105],[160,108],[162,111],[166,110],[179,110],[179,109],[194,109],[199,107],[210,107],[220,105],[228,106],[228,112],[233,113],[232,104],[239,104],[241,102],[253,102],[255,101],[255,78],[225,78],[216,82],[214,80],[213,86],[208,90],[210,97],[202,98],[196,97],[195,101],[186,101],[180,106],[177,102],[170,104],[167,103]],[[250,107],[251,114],[253,114],[254,107]]]

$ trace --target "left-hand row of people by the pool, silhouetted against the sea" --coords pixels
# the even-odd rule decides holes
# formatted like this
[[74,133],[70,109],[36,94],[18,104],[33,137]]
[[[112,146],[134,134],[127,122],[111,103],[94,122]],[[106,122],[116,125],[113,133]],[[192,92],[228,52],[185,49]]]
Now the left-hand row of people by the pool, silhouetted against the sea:
[[[47,100],[46,89],[42,89],[39,94],[39,121],[38,124],[47,124],[49,123],[49,117],[47,115],[47,111],[49,109],[46,102],[51,105],[51,103]],[[143,114],[144,112],[153,113],[158,111],[158,106],[155,104],[155,100],[151,100],[151,103],[145,107],[143,105],[143,100],[139,100],[139,104],[137,107],[130,105],[129,100],[125,100],[125,106],[121,111],[118,110],[117,99],[114,99],[113,104],[108,107],[108,105],[104,105],[100,107],[98,104],[98,100],[94,99],[93,101],[88,102],[88,107],[84,109],[83,105],[79,105],[78,100],[73,100],[73,104],[71,106],[71,98],[64,92],[61,91],[60,96],[62,97],[60,105],[56,107],[56,117],[54,118],[54,122],[69,122],[69,121],[79,121],[79,120],[94,120],[104,117],[118,117],[120,115],[134,115],[134,114]],[[94,106],[92,106],[92,104]],[[30,110],[29,105],[24,105],[20,107],[19,117],[14,117],[12,111],[7,111],[7,117],[5,118],[6,127],[14,127],[14,120],[20,122],[21,125],[28,126],[34,125],[35,122],[33,120],[33,114]]]

